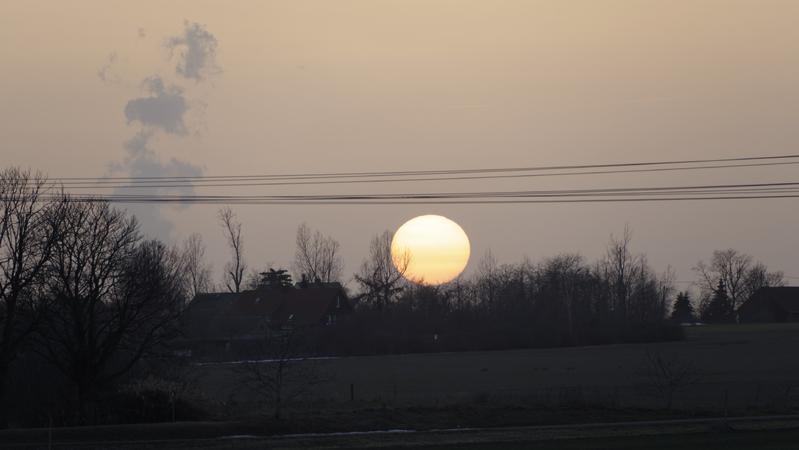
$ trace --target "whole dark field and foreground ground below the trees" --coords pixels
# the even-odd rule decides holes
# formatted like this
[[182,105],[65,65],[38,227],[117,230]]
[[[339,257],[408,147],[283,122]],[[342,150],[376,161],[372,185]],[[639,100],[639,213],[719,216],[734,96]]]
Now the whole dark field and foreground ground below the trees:
[[[795,448],[799,324],[686,332],[658,344],[304,361],[324,381],[281,421],[242,386],[240,364],[194,366],[196,394],[216,421],[55,429],[52,440],[118,449]],[[647,353],[693,367],[672,408],[645,374]],[[48,439],[46,429],[0,431],[0,447]]]

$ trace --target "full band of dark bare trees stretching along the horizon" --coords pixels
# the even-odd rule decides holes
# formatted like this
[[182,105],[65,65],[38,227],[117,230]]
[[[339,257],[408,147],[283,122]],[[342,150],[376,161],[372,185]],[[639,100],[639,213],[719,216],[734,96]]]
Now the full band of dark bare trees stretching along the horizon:
[[[247,264],[241,222],[227,208],[218,220],[230,260],[217,284],[200,235],[179,245],[149,239],[134,217],[107,202],[75,200],[29,170],[0,171],[0,425],[10,417],[14,380],[35,377],[46,389],[28,395],[59,405],[48,414],[55,408],[62,423],[92,422],[102,414],[104,395],[133,377],[151,376],[143,367],[174,360],[170,343],[196,294],[257,287],[261,275]],[[701,294],[693,302],[676,292],[673,271],[656,273],[632,250],[625,229],[594,262],[562,254],[499,264],[488,253],[472,276],[424,286],[403,277],[409,261],[392,259],[391,239],[390,232],[374,236],[353,277],[356,314],[319,331],[308,351],[678,339],[675,323],[695,320],[695,310],[703,320],[729,321],[754,290],[783,282],[781,273],[748,255],[718,251],[695,268]],[[334,238],[300,225],[295,279],[344,281],[340,251]],[[284,271],[271,273],[288,280]]]

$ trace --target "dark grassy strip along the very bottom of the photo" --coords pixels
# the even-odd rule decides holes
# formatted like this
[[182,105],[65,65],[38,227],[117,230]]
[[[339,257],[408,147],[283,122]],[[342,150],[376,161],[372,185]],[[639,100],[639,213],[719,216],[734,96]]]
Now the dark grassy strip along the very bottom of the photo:
[[264,436],[234,423],[125,425],[0,432],[14,449],[793,449],[799,417]]

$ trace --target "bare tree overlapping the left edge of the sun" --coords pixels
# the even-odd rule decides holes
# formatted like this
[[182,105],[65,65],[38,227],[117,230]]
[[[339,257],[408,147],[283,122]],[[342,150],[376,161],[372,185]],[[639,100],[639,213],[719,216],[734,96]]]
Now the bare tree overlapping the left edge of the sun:
[[374,236],[369,244],[369,257],[355,275],[361,286],[361,300],[371,307],[384,310],[403,290],[403,275],[410,263],[410,254],[391,255],[392,234],[384,231]]

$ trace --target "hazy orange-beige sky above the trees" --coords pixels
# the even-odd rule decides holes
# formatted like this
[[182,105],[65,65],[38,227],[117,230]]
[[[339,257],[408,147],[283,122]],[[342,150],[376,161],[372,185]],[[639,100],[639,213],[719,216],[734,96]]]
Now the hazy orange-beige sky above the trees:
[[[0,156],[3,166],[97,177],[797,153],[797,17],[799,2],[763,0],[2,0]],[[763,181],[797,181],[797,168],[369,192]],[[799,277],[795,199],[235,210],[259,267],[288,266],[306,221],[341,242],[349,276],[371,235],[434,213],[469,234],[470,267],[489,248],[502,262],[563,251],[594,259],[629,224],[635,249],[681,281],[727,247]],[[218,276],[215,207],[136,212],[160,237],[202,233]]]

